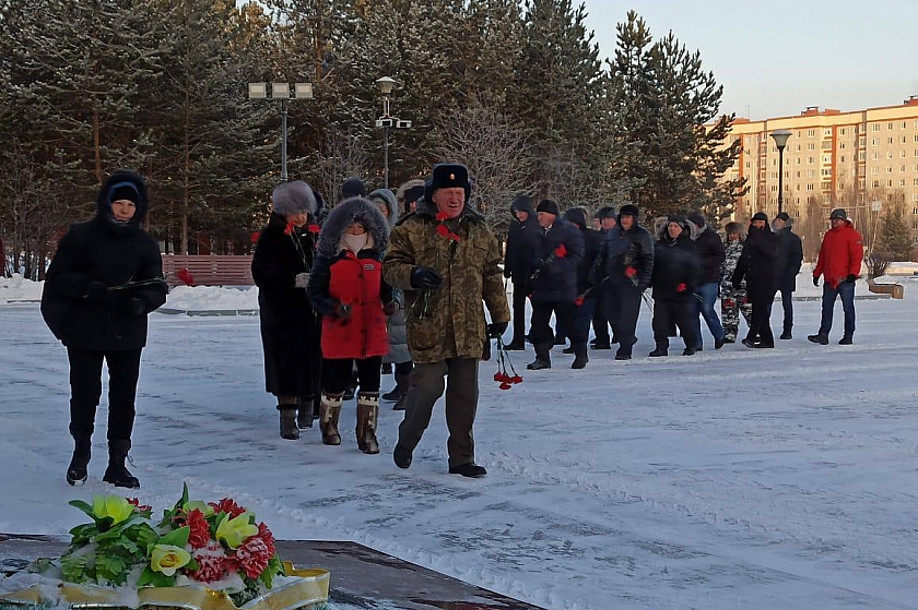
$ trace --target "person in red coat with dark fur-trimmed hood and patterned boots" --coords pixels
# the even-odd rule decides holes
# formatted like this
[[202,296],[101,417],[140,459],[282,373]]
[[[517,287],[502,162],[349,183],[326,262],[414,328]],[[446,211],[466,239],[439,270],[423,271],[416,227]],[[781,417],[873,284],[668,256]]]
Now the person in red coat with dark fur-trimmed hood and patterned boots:
[[364,453],[379,453],[379,370],[389,349],[386,307],[392,307],[392,290],[382,282],[388,240],[389,226],[376,205],[363,198],[339,203],[322,226],[306,289],[322,316],[322,443],[341,444],[342,396],[356,364],[361,387],[356,434]]

